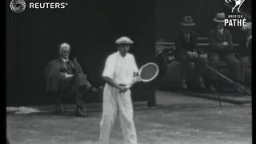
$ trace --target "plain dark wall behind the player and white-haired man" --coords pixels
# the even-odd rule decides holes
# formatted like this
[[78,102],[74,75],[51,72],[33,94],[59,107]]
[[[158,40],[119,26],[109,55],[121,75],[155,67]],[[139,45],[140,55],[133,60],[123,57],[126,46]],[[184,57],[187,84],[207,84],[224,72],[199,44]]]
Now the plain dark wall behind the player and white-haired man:
[[[15,14],[7,9],[8,105],[46,102],[45,68],[58,57],[61,42],[70,43],[71,57],[78,58],[95,86],[103,86],[106,56],[116,50],[114,42],[123,35],[134,40],[131,53],[138,66],[153,60],[154,1],[67,2],[64,10],[26,8]],[[99,97],[89,99],[100,102]]]

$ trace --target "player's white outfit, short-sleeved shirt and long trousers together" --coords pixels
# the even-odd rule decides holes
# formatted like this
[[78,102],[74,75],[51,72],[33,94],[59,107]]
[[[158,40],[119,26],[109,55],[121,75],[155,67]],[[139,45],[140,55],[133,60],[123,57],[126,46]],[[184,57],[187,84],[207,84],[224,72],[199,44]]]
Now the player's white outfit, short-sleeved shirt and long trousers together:
[[[102,76],[114,79],[118,84],[129,85],[133,82],[134,73],[138,72],[138,66],[134,55],[126,54],[125,57],[119,52],[111,54],[106,59]],[[130,90],[120,93],[117,88],[106,83],[103,91],[103,111],[100,140],[102,144],[110,141],[110,132],[114,126],[116,115],[119,114],[122,134],[125,144],[137,144],[137,134],[134,126],[134,110],[130,97]]]

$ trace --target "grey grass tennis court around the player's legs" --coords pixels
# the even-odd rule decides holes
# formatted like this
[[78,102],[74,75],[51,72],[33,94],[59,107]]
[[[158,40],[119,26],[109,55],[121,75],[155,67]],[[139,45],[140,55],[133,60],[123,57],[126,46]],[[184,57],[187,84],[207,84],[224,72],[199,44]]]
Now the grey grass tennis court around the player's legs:
[[[177,95],[170,98],[178,102],[179,97],[182,98]],[[184,97],[182,101],[186,101],[186,105],[193,101],[201,105],[214,103],[202,98]],[[98,144],[101,114],[90,112],[89,118],[76,118],[72,114],[9,114],[7,136],[12,144]],[[156,110],[135,110],[134,122],[138,144],[252,143],[251,106],[218,107],[217,104],[174,108],[163,104]],[[118,118],[110,143],[122,143]]]

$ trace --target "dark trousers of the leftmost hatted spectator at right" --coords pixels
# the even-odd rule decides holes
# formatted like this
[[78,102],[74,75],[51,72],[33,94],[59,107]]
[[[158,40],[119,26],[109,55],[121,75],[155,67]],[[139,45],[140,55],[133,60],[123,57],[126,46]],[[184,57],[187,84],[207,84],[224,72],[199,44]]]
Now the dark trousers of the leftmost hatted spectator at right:
[[[202,79],[199,81],[201,85],[214,89],[211,86],[214,86],[213,80],[210,77],[210,71],[206,67],[206,63],[208,63],[207,58],[189,58],[187,55],[183,54],[182,57],[178,58],[178,61],[182,63],[182,78],[187,79],[190,76],[189,65],[191,62],[194,63],[196,74]],[[201,86],[202,88],[202,86]]]

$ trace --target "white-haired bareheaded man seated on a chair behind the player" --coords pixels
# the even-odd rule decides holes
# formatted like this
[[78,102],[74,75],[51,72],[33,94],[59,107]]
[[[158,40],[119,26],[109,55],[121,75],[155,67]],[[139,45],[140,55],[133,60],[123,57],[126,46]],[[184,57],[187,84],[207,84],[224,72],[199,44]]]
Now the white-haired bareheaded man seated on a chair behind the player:
[[59,49],[60,57],[51,61],[46,67],[46,91],[63,91],[66,94],[74,94],[76,100],[75,115],[86,117],[84,94],[87,91],[96,91],[83,73],[80,64],[70,57],[70,45],[62,43]]

